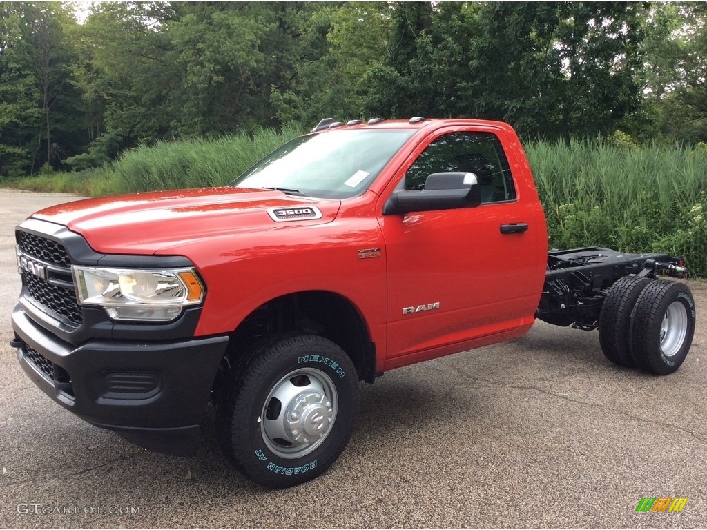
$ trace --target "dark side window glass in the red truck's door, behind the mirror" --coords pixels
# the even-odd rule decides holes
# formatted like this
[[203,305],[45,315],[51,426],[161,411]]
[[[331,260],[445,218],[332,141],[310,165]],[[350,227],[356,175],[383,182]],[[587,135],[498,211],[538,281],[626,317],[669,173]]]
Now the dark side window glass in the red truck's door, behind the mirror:
[[515,199],[508,160],[494,134],[458,132],[440,136],[408,168],[405,189],[423,189],[428,175],[446,171],[477,175],[481,203]]

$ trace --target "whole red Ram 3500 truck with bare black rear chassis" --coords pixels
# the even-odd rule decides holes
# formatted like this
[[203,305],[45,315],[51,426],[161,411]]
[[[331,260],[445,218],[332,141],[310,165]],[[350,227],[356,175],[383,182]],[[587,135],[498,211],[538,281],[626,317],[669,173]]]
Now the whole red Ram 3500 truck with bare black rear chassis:
[[[665,375],[689,351],[681,259],[547,250],[508,124],[325,119],[228,187],[76,201],[16,230],[18,359],[64,408],[147,449],[224,452],[283,487],[349,441],[360,380],[525,334],[598,329]],[[571,347],[568,345],[568,348]]]

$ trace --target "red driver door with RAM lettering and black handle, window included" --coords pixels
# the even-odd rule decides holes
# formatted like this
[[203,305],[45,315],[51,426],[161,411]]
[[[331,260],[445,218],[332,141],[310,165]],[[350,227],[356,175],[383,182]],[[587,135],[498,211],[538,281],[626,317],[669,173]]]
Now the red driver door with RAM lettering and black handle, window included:
[[533,321],[545,269],[537,261],[547,258],[544,215],[537,193],[532,199],[514,179],[523,168],[511,170],[504,134],[440,131],[403,169],[396,189],[422,189],[434,172],[473,172],[481,205],[380,216],[389,361],[458,343],[472,347]]

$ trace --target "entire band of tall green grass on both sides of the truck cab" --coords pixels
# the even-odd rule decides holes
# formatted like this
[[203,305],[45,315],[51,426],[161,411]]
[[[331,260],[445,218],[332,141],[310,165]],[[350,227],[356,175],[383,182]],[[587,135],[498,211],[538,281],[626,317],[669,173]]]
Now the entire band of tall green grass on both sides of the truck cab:
[[[301,131],[261,129],[221,139],[158,142],[106,167],[6,184],[91,196],[228,184]],[[707,148],[610,141],[526,147],[547,216],[549,245],[667,252],[707,277]],[[3,183],[0,183],[3,184]]]

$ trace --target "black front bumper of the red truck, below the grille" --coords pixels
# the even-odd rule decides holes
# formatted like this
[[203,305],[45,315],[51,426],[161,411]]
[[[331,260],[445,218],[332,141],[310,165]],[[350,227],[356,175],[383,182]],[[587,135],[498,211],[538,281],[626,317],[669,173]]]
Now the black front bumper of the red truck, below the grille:
[[12,326],[23,370],[58,404],[145,449],[196,453],[228,336],[74,346],[36,324],[21,304]]

